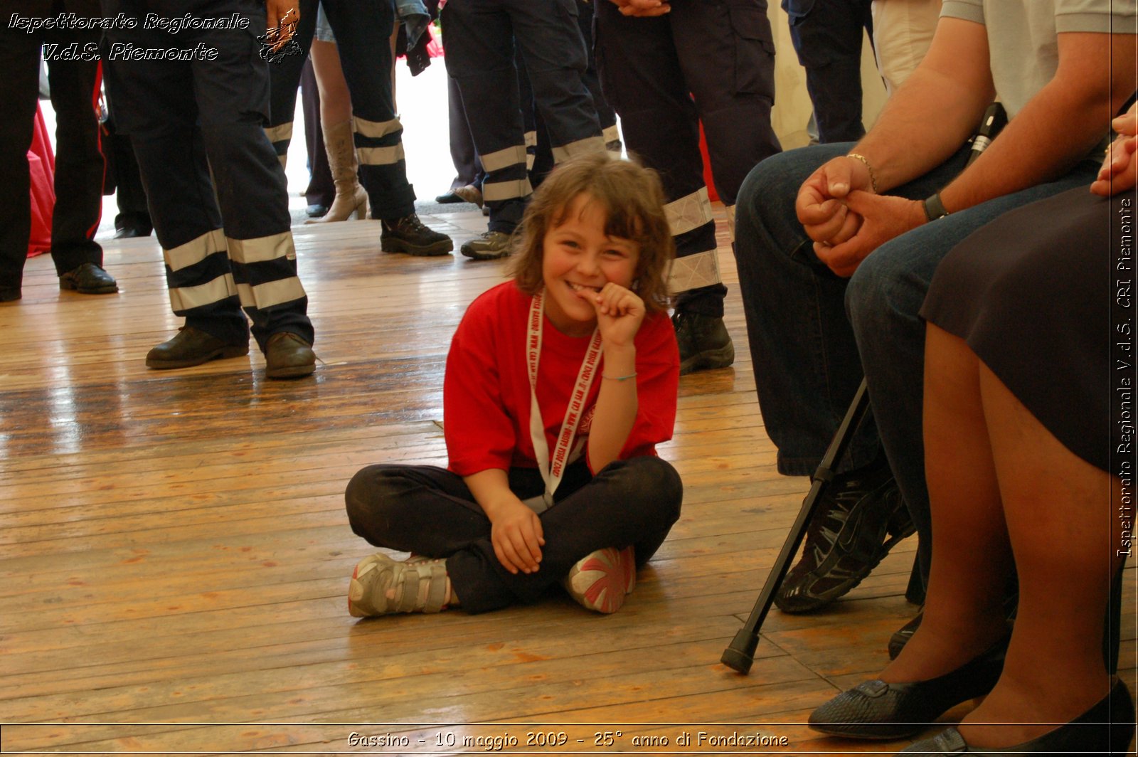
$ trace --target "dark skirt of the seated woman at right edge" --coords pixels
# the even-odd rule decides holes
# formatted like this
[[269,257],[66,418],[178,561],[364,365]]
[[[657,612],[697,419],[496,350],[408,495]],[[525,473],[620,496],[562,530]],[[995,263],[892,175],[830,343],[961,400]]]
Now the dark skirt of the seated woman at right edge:
[[[1115,283],[1133,280],[1133,192],[1105,199],[1082,187],[1000,216],[948,254],[921,311],[964,339],[1064,446],[1103,470],[1128,441],[1125,425],[1111,418],[1122,400],[1112,400],[1119,377],[1111,376],[1111,347],[1128,318],[1120,311],[1132,314],[1132,305],[1118,304]],[[1129,270],[1116,271],[1120,263]],[[1125,355],[1133,365],[1133,353]]]

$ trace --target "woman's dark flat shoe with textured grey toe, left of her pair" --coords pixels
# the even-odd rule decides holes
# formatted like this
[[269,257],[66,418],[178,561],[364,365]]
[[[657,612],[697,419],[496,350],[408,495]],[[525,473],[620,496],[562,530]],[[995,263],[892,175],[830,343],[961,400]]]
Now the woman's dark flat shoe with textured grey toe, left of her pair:
[[847,739],[900,739],[923,731],[963,701],[983,697],[1004,669],[1007,640],[951,673],[916,683],[866,681],[810,714],[809,726]]

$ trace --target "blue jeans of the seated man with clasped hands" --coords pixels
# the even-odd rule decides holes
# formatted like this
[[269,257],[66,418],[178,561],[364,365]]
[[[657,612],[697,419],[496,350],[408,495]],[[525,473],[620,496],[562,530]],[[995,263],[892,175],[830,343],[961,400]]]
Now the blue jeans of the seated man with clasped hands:
[[[778,471],[808,476],[866,378],[873,421],[861,425],[841,470],[871,463],[884,449],[913,513],[927,578],[932,541],[921,429],[925,327],[918,313],[929,283],[941,258],[972,231],[1021,205],[1089,184],[1098,166],[1083,162],[1057,181],[921,225],[879,247],[843,279],[814,254],[794,199],[814,171],[852,147],[820,145],[772,156],[740,190],[735,258],[759,408],[778,447]],[[924,199],[948,184],[967,156],[963,147],[889,194]]]

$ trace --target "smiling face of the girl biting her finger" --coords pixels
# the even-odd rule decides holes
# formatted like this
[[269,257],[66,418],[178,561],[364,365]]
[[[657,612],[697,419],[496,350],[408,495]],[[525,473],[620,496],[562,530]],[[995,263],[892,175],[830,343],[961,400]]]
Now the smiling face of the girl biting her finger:
[[574,197],[560,225],[542,240],[545,315],[559,331],[588,336],[596,327],[593,306],[608,282],[632,288],[640,245],[604,232],[604,209],[588,194]]

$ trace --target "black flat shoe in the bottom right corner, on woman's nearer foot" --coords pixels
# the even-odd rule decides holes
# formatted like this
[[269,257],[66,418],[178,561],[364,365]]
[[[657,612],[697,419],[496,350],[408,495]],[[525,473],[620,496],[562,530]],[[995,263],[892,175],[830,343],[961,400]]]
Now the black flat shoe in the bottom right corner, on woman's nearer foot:
[[1020,754],[1079,754],[1079,755],[1122,755],[1130,747],[1135,734],[1135,703],[1130,691],[1122,681],[1115,681],[1111,693],[1086,713],[1048,731],[1031,741],[1024,741],[1015,747],[1003,749],[973,749],[960,732],[948,729],[932,739],[917,741],[901,749],[902,755],[1020,755]]

